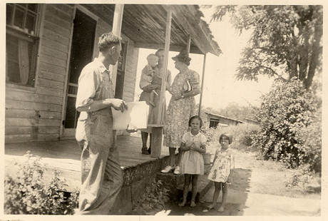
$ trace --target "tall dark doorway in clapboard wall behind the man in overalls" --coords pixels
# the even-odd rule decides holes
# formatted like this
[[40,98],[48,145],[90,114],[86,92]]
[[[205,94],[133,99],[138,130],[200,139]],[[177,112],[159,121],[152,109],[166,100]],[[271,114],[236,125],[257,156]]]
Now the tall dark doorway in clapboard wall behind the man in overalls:
[[92,61],[96,25],[97,22],[94,19],[76,9],[71,46],[71,60],[68,72],[64,136],[66,129],[76,128],[76,122],[79,116],[75,108],[78,77],[81,74],[82,68]]

